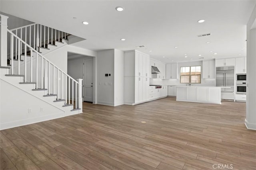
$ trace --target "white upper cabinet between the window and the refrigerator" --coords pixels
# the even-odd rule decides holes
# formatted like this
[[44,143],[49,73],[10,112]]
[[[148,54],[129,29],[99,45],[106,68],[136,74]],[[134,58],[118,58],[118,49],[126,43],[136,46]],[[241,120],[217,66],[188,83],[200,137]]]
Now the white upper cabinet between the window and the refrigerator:
[[215,78],[215,61],[203,61],[203,78]]

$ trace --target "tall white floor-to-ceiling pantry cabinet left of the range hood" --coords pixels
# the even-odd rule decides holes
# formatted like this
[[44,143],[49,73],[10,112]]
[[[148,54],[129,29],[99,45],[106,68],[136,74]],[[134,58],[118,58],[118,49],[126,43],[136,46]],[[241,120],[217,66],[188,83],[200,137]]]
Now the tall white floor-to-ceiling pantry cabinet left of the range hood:
[[137,50],[124,52],[124,104],[149,100],[149,55]]

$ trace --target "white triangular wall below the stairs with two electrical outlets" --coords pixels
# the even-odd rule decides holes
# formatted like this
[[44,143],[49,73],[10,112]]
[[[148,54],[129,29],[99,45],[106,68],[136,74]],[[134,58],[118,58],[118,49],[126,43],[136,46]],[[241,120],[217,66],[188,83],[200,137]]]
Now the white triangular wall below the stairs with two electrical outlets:
[[[65,112],[0,79],[0,129],[64,117]],[[28,113],[31,108],[31,113]],[[43,111],[40,111],[43,108]]]

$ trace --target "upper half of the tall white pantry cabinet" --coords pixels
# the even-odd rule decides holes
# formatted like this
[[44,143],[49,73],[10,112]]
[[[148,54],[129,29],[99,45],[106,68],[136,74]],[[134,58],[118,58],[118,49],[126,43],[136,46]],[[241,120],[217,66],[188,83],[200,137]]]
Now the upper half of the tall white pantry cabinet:
[[149,77],[151,74],[150,57],[140,51],[126,51],[124,63],[124,76]]

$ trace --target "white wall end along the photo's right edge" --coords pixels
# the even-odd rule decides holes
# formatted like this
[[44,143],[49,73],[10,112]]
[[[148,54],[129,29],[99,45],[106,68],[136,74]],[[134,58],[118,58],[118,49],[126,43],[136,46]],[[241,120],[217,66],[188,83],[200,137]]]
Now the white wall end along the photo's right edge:
[[[248,129],[256,130],[256,6],[247,23],[247,89],[246,89],[246,119]],[[256,24],[255,24],[256,25]]]

